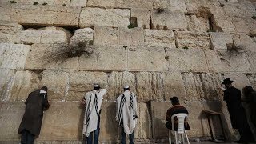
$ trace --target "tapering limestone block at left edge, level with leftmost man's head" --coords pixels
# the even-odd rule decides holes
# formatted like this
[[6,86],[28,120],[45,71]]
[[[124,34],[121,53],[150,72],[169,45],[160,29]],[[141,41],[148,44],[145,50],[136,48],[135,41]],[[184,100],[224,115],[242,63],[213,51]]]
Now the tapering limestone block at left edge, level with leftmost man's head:
[[11,83],[14,79],[14,70],[0,69],[0,101],[8,100]]

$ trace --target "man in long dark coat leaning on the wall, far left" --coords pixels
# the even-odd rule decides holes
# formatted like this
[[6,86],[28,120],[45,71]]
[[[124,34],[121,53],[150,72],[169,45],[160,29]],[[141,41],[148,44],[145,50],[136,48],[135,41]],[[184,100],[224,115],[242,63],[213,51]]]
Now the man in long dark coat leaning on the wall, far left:
[[43,111],[49,108],[47,87],[31,92],[26,99],[26,110],[18,128],[22,134],[22,144],[33,144],[35,136],[40,134]]

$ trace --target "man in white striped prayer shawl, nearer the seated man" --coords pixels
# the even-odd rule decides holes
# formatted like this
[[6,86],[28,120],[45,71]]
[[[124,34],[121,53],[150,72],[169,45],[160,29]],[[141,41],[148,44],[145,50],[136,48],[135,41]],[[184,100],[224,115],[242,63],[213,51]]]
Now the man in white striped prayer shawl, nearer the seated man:
[[126,134],[129,134],[130,144],[134,144],[134,128],[136,126],[137,98],[130,92],[129,86],[124,86],[124,92],[117,99],[116,120],[121,126],[121,144],[126,144]]

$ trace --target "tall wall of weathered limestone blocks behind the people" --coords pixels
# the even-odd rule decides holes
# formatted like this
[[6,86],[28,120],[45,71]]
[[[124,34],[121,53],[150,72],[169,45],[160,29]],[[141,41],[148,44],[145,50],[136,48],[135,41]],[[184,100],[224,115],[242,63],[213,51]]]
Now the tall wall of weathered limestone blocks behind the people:
[[[253,0],[1,0],[0,142],[18,141],[27,95],[48,86],[37,143],[80,143],[80,101],[94,83],[108,90],[102,143],[118,141],[114,102],[125,84],[138,96],[138,143],[167,138],[173,96],[190,111],[190,138],[210,136],[202,110],[222,112],[234,138],[218,88],[223,78],[256,88],[255,8]],[[81,54],[67,54],[81,42]]]

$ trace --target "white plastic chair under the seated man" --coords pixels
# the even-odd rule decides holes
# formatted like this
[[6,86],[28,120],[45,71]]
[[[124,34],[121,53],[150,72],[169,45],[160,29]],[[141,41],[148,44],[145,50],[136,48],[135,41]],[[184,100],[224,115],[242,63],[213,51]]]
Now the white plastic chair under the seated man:
[[[178,119],[178,129],[177,129],[177,131],[174,131],[174,117],[177,117],[177,119]],[[172,129],[169,130],[169,143],[170,144],[171,144],[171,133],[174,133],[175,144],[178,144],[179,135],[181,135],[181,137],[182,137],[182,143],[183,144],[185,143],[184,134],[186,136],[186,142],[188,144],[190,144],[189,138],[187,137],[186,130],[185,130],[185,127],[184,127],[184,121],[185,121],[185,118],[187,118],[187,117],[188,117],[188,114],[183,114],[183,113],[174,114],[173,116],[171,116]]]

